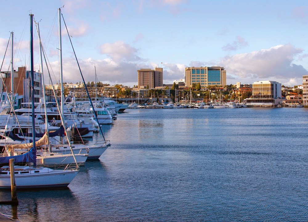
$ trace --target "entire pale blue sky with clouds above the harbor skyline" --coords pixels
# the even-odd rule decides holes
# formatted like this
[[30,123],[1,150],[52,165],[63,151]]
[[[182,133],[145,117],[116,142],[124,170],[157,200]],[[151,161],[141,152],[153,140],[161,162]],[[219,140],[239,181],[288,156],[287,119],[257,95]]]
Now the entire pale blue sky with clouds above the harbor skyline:
[[[59,81],[58,8],[86,81],[137,85],[140,68],[164,68],[164,83],[184,67],[223,66],[227,84],[272,80],[302,84],[308,69],[308,1],[1,1],[0,58],[14,31],[14,69],[29,60],[29,13]],[[63,79],[81,76],[62,20]],[[37,43],[37,35],[35,35]],[[35,67],[39,69],[38,44]],[[1,71],[9,69],[10,48]],[[2,61],[1,61],[2,62]],[[163,63],[163,64],[161,64]],[[46,68],[44,68],[44,71]],[[47,79],[47,78],[45,78]],[[47,84],[48,82],[46,82]]]

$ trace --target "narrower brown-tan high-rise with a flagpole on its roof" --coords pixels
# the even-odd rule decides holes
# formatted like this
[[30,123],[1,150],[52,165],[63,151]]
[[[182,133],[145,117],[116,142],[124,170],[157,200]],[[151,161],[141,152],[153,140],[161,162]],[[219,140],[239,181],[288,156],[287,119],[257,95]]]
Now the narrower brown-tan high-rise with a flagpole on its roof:
[[155,88],[163,86],[163,68],[140,69],[138,70],[138,87]]

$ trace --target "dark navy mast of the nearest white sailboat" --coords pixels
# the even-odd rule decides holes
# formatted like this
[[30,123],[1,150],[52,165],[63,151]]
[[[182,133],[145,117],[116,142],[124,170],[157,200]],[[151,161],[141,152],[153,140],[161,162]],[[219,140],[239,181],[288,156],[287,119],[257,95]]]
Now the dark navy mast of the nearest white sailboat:
[[[30,14],[30,64],[31,64],[31,100],[32,100],[32,138],[33,138],[33,149],[36,152],[35,147],[35,116],[34,116],[34,61],[33,61],[33,14]],[[36,160],[33,163],[36,167]]]

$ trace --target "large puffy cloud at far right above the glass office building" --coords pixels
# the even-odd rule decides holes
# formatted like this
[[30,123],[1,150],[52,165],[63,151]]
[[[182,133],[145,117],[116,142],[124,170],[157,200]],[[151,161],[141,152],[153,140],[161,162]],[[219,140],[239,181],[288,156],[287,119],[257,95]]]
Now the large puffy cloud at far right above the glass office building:
[[293,60],[302,52],[302,49],[291,44],[278,45],[260,51],[226,56],[219,64],[225,67],[229,75],[250,80],[249,82],[274,80],[284,84],[294,79],[300,84],[302,76],[308,72],[302,65],[294,64]]

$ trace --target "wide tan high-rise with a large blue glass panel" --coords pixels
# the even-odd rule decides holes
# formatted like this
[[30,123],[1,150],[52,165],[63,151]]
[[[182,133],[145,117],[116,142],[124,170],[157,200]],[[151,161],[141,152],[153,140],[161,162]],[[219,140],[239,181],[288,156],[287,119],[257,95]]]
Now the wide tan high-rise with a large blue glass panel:
[[223,67],[187,67],[185,68],[185,86],[192,87],[200,83],[201,87],[209,85],[226,85],[226,70]]

